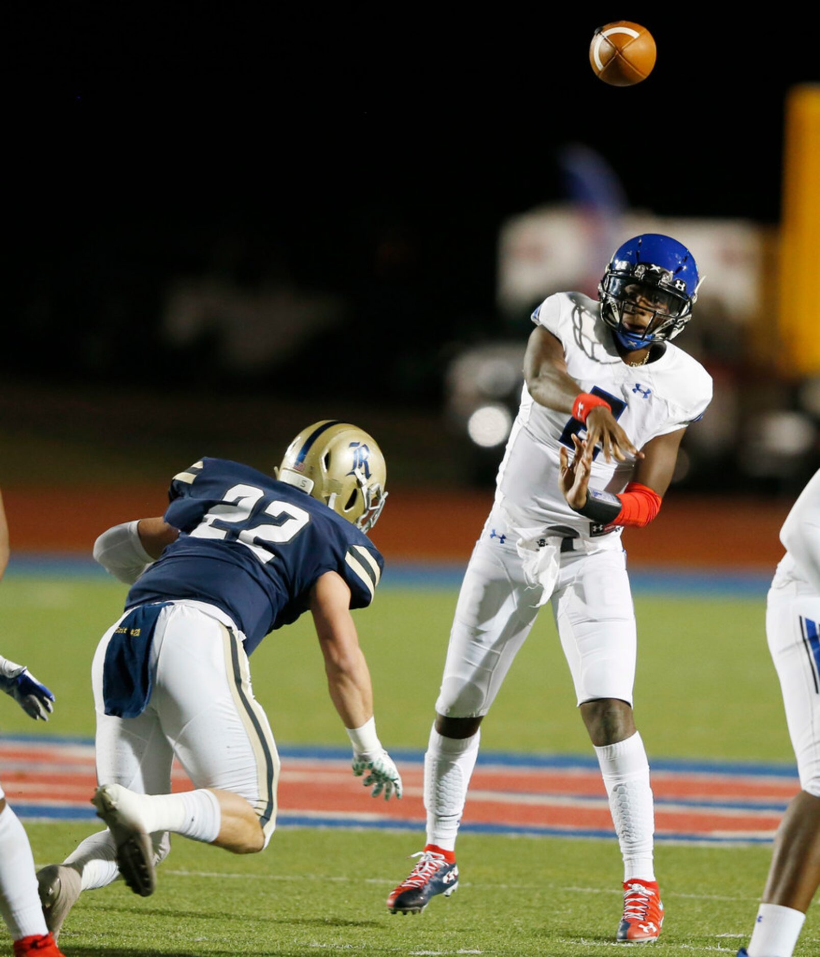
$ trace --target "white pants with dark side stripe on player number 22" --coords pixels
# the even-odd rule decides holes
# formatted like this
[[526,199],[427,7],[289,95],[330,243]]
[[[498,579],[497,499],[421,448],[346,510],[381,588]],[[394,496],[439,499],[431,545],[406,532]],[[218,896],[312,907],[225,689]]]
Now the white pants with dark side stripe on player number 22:
[[168,794],[176,756],[195,788],[245,798],[267,844],[276,827],[279,755],[254,699],[236,626],[202,602],[178,601],[163,609],[153,636],[148,705],[137,718],[116,718],[104,711],[102,669],[119,624],[103,634],[91,669],[100,783]]

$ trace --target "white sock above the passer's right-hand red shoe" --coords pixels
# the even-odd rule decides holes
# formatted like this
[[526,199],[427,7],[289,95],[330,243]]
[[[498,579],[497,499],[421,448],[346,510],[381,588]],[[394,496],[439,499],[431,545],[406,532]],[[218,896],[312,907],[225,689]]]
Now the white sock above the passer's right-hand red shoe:
[[626,741],[596,747],[595,753],[624,856],[624,880],[654,880],[655,813],[649,787],[649,761],[641,736],[636,731]]

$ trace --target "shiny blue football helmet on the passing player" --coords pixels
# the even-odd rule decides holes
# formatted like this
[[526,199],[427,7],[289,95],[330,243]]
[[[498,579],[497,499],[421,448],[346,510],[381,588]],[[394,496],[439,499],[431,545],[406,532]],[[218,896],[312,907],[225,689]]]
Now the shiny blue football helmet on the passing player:
[[[674,339],[692,318],[697,299],[695,257],[671,236],[645,233],[627,240],[612,255],[598,286],[601,318],[629,349]],[[630,331],[624,317],[649,312],[643,332]]]

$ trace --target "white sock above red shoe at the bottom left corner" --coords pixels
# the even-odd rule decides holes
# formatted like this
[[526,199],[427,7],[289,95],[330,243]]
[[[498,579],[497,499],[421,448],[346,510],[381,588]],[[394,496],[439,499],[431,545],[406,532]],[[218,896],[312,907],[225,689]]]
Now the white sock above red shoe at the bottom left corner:
[[0,914],[12,940],[48,933],[34,877],[32,846],[8,804],[0,812]]

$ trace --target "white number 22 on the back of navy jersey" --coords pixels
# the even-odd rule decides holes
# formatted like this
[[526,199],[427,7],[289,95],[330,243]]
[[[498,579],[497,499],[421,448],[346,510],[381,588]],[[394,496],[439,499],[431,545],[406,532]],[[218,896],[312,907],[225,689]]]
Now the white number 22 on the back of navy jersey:
[[265,564],[273,558],[262,542],[286,545],[309,523],[304,508],[289,501],[264,501],[255,485],[234,485],[194,528],[192,538],[221,539],[246,545]]

